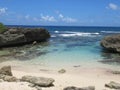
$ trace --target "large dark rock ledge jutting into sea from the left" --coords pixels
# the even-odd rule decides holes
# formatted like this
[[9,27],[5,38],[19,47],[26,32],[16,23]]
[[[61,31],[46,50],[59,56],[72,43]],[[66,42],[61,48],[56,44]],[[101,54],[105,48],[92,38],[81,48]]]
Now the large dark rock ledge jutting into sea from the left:
[[44,28],[7,28],[5,32],[0,33],[0,47],[42,42],[49,38],[50,34]]

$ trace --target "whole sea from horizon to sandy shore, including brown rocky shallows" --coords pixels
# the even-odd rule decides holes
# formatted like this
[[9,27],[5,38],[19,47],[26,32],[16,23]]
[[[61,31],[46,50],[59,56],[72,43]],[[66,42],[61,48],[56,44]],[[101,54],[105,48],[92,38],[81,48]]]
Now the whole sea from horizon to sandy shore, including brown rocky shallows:
[[102,62],[119,57],[106,52],[100,41],[107,35],[119,34],[120,27],[91,26],[9,26],[45,28],[51,35],[46,42],[2,48],[2,63],[14,66],[102,67],[120,69],[119,62]]

